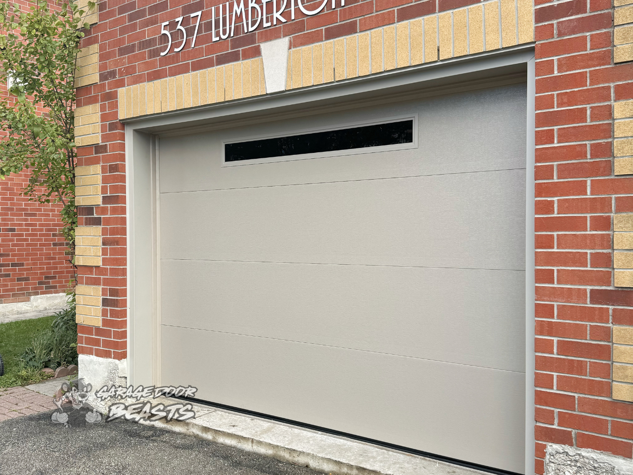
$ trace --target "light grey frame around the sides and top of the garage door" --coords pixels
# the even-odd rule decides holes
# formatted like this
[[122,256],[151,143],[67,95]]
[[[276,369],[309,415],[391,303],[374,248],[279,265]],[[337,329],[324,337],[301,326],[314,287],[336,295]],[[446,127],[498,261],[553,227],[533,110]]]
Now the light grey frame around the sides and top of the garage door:
[[[158,301],[158,200],[156,135],[209,127],[213,122],[239,124],[263,114],[316,109],[345,99],[363,99],[386,91],[427,87],[460,87],[465,81],[482,80],[527,70],[527,186],[525,196],[525,473],[533,472],[534,460],[534,46],[482,53],[474,58],[445,60],[430,65],[370,75],[341,83],[306,87],[238,99],[229,103],[173,111],[149,118],[123,120],[127,183],[127,375],[128,384],[160,384],[160,306]],[[152,246],[147,246],[151,242]]]

